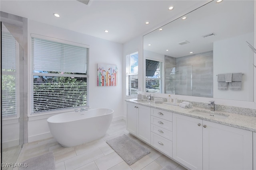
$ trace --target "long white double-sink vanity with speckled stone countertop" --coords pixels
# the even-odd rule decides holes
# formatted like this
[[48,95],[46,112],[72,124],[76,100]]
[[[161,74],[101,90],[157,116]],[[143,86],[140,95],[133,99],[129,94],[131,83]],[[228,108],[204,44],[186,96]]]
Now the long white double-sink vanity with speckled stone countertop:
[[130,99],[126,129],[189,169],[253,170],[256,117],[203,111]]

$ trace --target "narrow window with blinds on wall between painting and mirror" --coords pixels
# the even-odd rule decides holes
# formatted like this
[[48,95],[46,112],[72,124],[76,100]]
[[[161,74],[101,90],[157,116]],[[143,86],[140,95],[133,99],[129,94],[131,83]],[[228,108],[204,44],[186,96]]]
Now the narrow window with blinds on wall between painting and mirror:
[[126,96],[138,94],[138,52],[126,55]]

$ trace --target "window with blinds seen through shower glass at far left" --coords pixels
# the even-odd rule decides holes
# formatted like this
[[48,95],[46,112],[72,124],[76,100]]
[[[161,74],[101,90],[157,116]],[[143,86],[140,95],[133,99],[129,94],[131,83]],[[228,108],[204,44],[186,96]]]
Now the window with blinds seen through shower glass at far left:
[[18,82],[16,71],[16,40],[2,31],[2,118],[17,116]]

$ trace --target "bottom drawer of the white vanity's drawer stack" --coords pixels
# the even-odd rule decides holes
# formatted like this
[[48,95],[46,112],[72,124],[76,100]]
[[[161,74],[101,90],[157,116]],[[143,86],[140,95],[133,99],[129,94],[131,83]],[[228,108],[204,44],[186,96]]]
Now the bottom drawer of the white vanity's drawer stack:
[[172,141],[151,132],[151,145],[172,158]]

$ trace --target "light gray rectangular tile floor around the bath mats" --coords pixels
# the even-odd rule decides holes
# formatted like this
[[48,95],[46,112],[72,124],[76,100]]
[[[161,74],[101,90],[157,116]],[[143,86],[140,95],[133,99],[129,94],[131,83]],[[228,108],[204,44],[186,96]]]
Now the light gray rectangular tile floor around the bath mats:
[[[123,134],[128,135],[150,150],[150,154],[130,166],[126,164],[106,143],[107,140]],[[56,170],[160,170],[166,165],[176,167],[176,170],[186,170],[186,168],[130,135],[126,131],[124,120],[112,122],[102,139],[76,147],[62,147],[53,138],[25,144],[18,156],[17,163],[51,151],[54,152]]]

